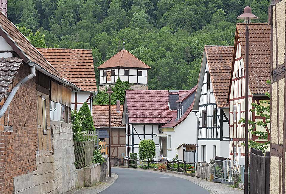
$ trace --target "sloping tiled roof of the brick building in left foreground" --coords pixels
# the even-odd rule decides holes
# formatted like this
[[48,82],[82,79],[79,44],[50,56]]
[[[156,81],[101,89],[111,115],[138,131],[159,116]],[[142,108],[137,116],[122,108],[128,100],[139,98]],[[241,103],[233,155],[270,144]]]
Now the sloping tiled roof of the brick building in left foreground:
[[32,43],[18,30],[18,28],[0,11],[0,35],[13,48],[17,55],[23,59],[23,63],[36,63],[36,69],[54,78],[55,80],[80,90],[76,85],[66,81],[52,67]]

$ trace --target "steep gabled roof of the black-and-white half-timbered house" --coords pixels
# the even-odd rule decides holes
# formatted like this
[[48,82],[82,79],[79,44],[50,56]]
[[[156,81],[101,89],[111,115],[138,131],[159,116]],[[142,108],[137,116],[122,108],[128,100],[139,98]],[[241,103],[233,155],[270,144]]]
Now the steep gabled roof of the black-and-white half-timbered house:
[[199,107],[206,64],[209,65],[209,74],[217,107],[229,107],[226,99],[229,89],[233,48],[233,46],[205,46],[193,110],[198,110]]

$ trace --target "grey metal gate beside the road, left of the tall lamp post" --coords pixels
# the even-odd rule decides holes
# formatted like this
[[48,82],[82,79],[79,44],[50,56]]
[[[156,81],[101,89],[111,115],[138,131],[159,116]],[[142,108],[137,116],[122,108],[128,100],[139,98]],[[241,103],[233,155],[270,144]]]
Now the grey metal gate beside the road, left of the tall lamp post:
[[233,184],[234,173],[237,173],[237,162],[234,160],[215,160],[214,181]]

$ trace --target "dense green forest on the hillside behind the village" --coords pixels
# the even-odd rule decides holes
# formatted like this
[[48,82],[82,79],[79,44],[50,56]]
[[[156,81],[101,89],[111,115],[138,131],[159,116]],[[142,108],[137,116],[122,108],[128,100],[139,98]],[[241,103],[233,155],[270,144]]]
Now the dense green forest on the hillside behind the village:
[[[233,45],[236,17],[251,6],[267,22],[269,0],[9,0],[8,17],[47,47],[93,49],[96,69],[125,49],[152,67],[149,89],[190,89],[205,44]],[[25,30],[27,30],[25,29]],[[42,36],[41,36],[42,37]],[[40,45],[40,46],[41,46]],[[35,45],[38,46],[38,45]]]

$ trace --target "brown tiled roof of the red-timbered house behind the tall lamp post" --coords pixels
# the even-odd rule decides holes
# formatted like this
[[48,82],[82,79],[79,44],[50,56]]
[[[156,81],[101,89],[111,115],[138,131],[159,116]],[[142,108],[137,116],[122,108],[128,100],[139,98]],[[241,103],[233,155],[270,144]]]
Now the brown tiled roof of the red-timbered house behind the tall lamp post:
[[[245,24],[238,23],[236,27],[245,63]],[[252,94],[270,92],[270,85],[266,84],[270,79],[270,35],[271,25],[267,23],[249,25],[249,88]]]

